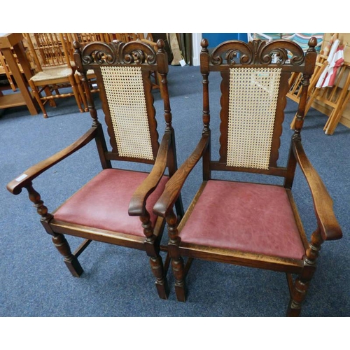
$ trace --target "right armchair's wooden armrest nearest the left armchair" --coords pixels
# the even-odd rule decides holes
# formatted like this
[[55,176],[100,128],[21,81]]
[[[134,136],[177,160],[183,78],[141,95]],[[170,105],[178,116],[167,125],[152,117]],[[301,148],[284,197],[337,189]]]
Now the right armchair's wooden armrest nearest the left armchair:
[[153,207],[153,212],[159,216],[166,217],[176,200],[178,199],[183,183],[185,183],[188,175],[195,167],[197,162],[202,158],[205,149],[208,146],[209,134],[203,134],[202,139],[197,144],[195,151],[190,155],[190,157],[183,162],[183,165],[175,172],[165,185],[165,190],[160,196],[160,199],[155,203]]

